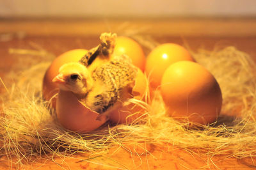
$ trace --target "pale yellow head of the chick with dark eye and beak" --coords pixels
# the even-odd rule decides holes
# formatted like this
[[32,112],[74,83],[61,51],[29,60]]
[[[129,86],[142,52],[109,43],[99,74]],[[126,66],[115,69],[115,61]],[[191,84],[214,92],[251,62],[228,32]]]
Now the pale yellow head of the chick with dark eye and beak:
[[59,73],[52,82],[59,84],[60,89],[72,91],[83,96],[92,89],[93,81],[86,66],[80,63],[67,63],[60,67]]

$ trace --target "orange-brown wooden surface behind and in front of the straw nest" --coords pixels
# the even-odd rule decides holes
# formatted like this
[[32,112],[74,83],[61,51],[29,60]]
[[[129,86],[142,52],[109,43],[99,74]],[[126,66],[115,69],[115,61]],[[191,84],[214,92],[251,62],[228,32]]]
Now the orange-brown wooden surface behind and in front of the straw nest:
[[[102,22],[99,20],[0,20],[0,76],[4,75],[15,64],[17,55],[10,54],[10,49],[44,49],[55,56],[77,48],[90,49],[98,43],[98,36],[103,31],[109,31],[108,27],[125,26],[126,20],[111,20]],[[216,45],[225,47],[233,45],[256,58],[256,20],[254,19],[218,19],[218,20],[129,20],[127,26],[151,27],[142,30],[142,35],[152,35],[159,43],[172,42],[189,45],[192,50],[199,48],[212,50]],[[170,29],[169,29],[170,28]],[[115,30],[111,29],[111,30]],[[120,29],[123,33],[125,29]],[[130,29],[131,30],[131,29]],[[146,50],[146,53],[148,51]],[[38,59],[38,62],[40,62]],[[0,93],[4,88],[0,83]],[[207,156],[197,157],[190,155],[186,150],[179,150],[170,146],[146,145],[152,149],[152,155],[129,153],[124,149],[109,151],[109,158],[96,157],[90,161],[79,161],[86,155],[76,155],[76,158],[66,158],[61,166],[65,169],[253,169],[256,159],[236,159],[214,157],[207,162]],[[131,148],[133,150],[133,148]],[[108,162],[102,165],[102,161]],[[116,161],[123,164],[117,164]],[[61,158],[57,162],[61,163]],[[1,168],[6,169],[10,162],[1,161]],[[54,162],[42,162],[26,166],[28,169],[61,169]],[[12,165],[15,167],[15,165]]]

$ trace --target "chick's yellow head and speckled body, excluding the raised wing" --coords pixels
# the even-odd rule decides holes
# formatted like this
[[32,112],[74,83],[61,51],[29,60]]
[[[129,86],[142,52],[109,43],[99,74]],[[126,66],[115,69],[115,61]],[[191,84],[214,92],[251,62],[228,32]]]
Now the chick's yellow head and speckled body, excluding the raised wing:
[[61,90],[72,91],[92,111],[106,116],[132,91],[137,72],[129,62],[109,61],[93,72],[81,63],[67,63],[52,81],[60,84]]

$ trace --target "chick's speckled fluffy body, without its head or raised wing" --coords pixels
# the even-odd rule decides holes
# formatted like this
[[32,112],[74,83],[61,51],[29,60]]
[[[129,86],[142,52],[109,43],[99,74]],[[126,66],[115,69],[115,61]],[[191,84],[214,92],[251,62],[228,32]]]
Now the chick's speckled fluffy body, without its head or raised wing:
[[129,63],[110,61],[92,73],[94,87],[83,98],[84,104],[93,111],[103,113],[113,107],[122,93],[131,92],[137,70]]

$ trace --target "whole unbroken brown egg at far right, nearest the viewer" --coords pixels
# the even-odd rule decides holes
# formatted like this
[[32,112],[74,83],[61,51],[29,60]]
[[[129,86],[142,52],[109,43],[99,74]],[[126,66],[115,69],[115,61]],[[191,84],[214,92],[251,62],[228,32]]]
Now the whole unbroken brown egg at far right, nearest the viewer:
[[198,63],[179,61],[169,66],[161,81],[168,116],[206,125],[221,111],[221,89],[214,76]]

